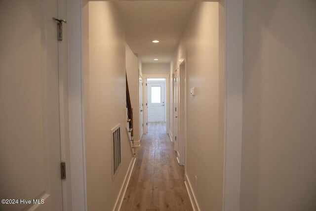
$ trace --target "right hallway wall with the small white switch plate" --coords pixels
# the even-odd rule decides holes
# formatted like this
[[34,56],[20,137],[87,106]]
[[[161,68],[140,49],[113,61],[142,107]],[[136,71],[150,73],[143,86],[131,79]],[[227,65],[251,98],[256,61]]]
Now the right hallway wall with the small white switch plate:
[[196,87],[196,96],[188,95],[187,100],[185,172],[200,210],[220,211],[224,140],[219,138],[223,125],[219,126],[218,2],[197,3],[172,60],[170,74],[185,55],[188,89]]

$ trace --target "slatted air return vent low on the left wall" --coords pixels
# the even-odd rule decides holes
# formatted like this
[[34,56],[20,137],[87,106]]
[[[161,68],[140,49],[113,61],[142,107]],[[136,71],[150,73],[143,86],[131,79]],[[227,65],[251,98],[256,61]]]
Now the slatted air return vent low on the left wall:
[[112,179],[116,176],[120,164],[120,124],[112,130]]

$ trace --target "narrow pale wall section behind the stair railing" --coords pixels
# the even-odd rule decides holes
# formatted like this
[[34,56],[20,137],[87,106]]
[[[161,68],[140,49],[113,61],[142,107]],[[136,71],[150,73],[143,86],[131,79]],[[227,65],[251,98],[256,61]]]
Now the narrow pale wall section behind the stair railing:
[[[126,43],[126,74],[129,96],[133,108],[134,142],[139,140],[139,89],[138,89],[138,58]],[[139,145],[139,144],[137,144]]]

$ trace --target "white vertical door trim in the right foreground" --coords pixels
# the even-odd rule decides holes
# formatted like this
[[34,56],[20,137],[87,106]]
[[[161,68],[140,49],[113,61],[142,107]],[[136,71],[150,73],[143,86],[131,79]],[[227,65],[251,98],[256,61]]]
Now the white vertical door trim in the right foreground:
[[[240,209],[243,26],[242,0],[219,0],[220,117],[224,125],[223,211]],[[221,84],[222,83],[222,84]]]

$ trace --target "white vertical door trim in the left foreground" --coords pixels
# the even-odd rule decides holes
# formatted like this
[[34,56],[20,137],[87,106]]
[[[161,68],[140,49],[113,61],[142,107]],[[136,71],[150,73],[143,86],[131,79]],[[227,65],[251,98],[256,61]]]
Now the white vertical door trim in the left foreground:
[[[88,64],[88,33],[82,30],[88,20],[88,0],[68,2],[68,91],[69,91],[69,146],[72,210],[87,211],[85,141],[83,116],[82,68]],[[66,24],[65,24],[66,25]],[[85,60],[83,60],[83,58]]]

